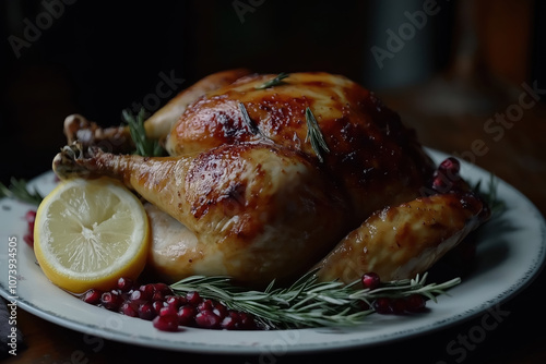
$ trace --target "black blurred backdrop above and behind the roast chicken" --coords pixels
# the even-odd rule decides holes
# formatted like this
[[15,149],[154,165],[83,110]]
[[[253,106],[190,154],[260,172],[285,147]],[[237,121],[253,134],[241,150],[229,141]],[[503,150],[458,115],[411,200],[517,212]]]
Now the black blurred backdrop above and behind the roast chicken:
[[[71,2],[0,3],[3,183],[49,169],[64,144],[68,114],[118,124],[122,109],[155,94],[161,73],[183,78],[181,90],[230,68],[318,70],[381,92],[425,82],[444,70],[453,59],[456,34],[458,2],[439,0],[439,13],[380,70],[371,46],[385,49],[385,31],[407,22],[404,11],[419,10],[424,1]],[[544,27],[537,20],[545,13],[544,2],[479,2],[486,21],[477,24],[490,40],[484,47],[492,60],[488,63],[515,84],[543,80]],[[38,36],[29,23],[41,27]],[[26,40],[29,35],[35,39],[15,51],[10,37],[13,43],[13,37]]]

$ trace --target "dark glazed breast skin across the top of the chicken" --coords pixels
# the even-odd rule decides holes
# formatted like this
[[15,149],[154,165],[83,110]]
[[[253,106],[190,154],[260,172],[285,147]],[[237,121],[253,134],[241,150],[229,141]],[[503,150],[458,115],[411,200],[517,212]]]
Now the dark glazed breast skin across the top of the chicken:
[[[283,84],[257,89],[275,75],[249,75],[189,106],[167,137],[170,155],[250,141],[271,141],[302,153],[348,194],[354,223],[385,205],[418,196],[432,166],[415,133],[369,90],[339,75],[293,73]],[[259,134],[242,120],[242,102]],[[306,108],[316,117],[330,153],[318,161],[306,142]]]

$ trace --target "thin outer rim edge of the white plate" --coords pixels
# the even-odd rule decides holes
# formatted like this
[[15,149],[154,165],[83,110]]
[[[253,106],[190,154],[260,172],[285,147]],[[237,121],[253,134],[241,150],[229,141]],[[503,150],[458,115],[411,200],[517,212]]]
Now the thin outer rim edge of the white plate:
[[[449,157],[449,154],[446,154],[440,150],[436,150],[432,148],[425,147],[425,151],[435,159],[441,159]],[[466,169],[474,169],[478,174],[490,174],[487,170],[480,168],[479,166],[470,163],[468,161],[462,160],[462,166]],[[45,178],[48,174],[51,174],[52,171],[47,171],[35,179],[31,181],[31,185],[34,183],[36,184],[37,181],[40,178]],[[325,342],[316,342],[316,343],[305,343],[305,344],[296,344],[296,345],[288,345],[287,347],[287,352],[289,353],[306,353],[306,352],[319,352],[319,351],[332,351],[332,350],[342,350],[342,349],[347,349],[347,348],[363,348],[363,347],[372,347],[372,345],[378,345],[378,344],[384,344],[389,342],[395,342],[395,341],[401,341],[404,339],[407,339],[410,337],[417,337],[417,336],[423,336],[423,335],[429,335],[431,332],[438,331],[438,330],[443,330],[449,327],[452,327],[454,325],[462,324],[464,321],[467,321],[487,310],[490,310],[495,305],[502,304],[511,299],[513,299],[517,294],[521,293],[523,290],[525,290],[532,282],[541,275],[542,270],[546,266],[546,221],[544,216],[541,214],[538,208],[531,202],[523,193],[521,193],[518,189],[513,187],[511,184],[507,183],[505,180],[497,178],[499,182],[499,186],[502,185],[503,189],[508,189],[510,193],[513,193],[521,202],[526,205],[527,208],[530,208],[530,211],[533,214],[533,218],[536,220],[536,223],[539,229],[539,239],[541,242],[538,242],[539,245],[539,251],[537,252],[538,254],[536,255],[535,259],[533,260],[533,265],[530,265],[527,269],[525,269],[525,274],[521,275],[518,279],[517,282],[511,284],[510,287],[507,287],[496,299],[488,300],[483,302],[479,305],[475,305],[472,307],[468,307],[464,312],[450,316],[448,318],[444,318],[442,320],[434,320],[432,323],[429,323],[425,326],[418,326],[416,328],[408,328],[404,330],[399,330],[394,332],[388,332],[378,337],[375,337],[373,340],[368,340],[368,341],[361,341],[358,339],[353,339],[353,340],[339,340],[339,341],[329,341],[328,343]],[[36,186],[39,187],[39,186]],[[21,203],[20,203],[21,204]],[[2,295],[4,299],[10,300],[10,295],[8,293],[7,288],[4,288],[3,282],[0,281],[0,295]],[[96,337],[102,337],[107,340],[112,340],[112,341],[119,341],[119,342],[124,342],[129,344],[138,344],[142,347],[149,347],[149,348],[155,348],[155,349],[164,349],[164,350],[170,350],[170,351],[183,351],[183,352],[194,352],[194,353],[216,353],[216,354],[260,354],[263,352],[264,347],[263,345],[248,345],[248,344],[225,344],[225,345],[218,345],[217,343],[214,344],[206,344],[203,342],[199,343],[193,343],[191,341],[182,341],[180,342],[179,340],[165,340],[163,337],[157,339],[154,338],[153,340],[150,339],[150,337],[146,336],[134,336],[130,335],[123,331],[116,331],[111,330],[105,327],[99,327],[99,326],[91,326],[85,323],[81,323],[78,320],[74,320],[69,317],[63,317],[59,315],[58,313],[51,313],[47,312],[44,308],[37,307],[33,303],[26,301],[24,298],[17,298],[17,307],[21,307],[28,313],[36,315],[45,320],[51,321],[56,325],[72,329],[74,331],[96,336]],[[84,303],[82,303],[84,304]],[[103,308],[98,308],[102,310]],[[116,316],[122,316],[120,314],[115,314]],[[122,316],[123,317],[123,316]],[[130,317],[126,317],[130,318]],[[145,321],[144,321],[145,323]],[[150,323],[147,323],[150,325]],[[204,329],[198,329],[198,328],[188,328],[187,331],[193,331],[193,330],[204,330]],[[320,328],[306,328],[306,329],[293,329],[293,330],[276,330],[276,332],[304,332],[304,331],[324,331],[324,329]],[[331,330],[331,329],[328,329]],[[256,333],[257,331],[226,331],[226,332],[252,332]],[[259,332],[275,332],[275,331],[259,331]],[[135,339],[139,339],[136,340]],[[176,347],[175,347],[176,345]],[[182,347],[180,347],[182,345]]]

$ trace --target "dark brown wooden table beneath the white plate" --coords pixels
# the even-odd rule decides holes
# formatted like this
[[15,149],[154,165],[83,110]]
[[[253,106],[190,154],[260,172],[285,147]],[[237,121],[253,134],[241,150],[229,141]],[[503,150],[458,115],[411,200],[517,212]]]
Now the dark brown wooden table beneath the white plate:
[[[532,83],[529,85],[532,86]],[[416,107],[415,99],[430,88],[384,93],[387,105],[400,111],[405,122],[414,126],[422,142],[447,153],[465,155],[473,143],[482,139],[488,151],[475,156],[475,163],[494,172],[523,192],[546,215],[546,109],[535,102],[523,109],[521,118],[506,128],[502,137],[487,133],[485,123],[496,113],[503,113],[512,105],[533,99],[522,96],[525,88],[517,85],[502,102],[485,112],[458,114],[427,112],[426,107]],[[538,95],[544,96],[544,95]],[[512,107],[510,110],[515,110]],[[500,132],[498,132],[500,133]],[[27,348],[20,350],[14,363],[141,363],[161,360],[168,363],[223,362],[223,363],[300,363],[311,360],[320,362],[405,363],[545,363],[546,362],[546,310],[543,289],[546,276],[542,274],[514,299],[499,306],[502,315],[499,325],[486,331],[486,336],[471,341],[468,333],[482,325],[482,317],[461,323],[438,332],[419,336],[400,342],[372,348],[332,351],[312,355],[232,356],[170,352],[135,347],[95,338],[48,323],[24,311],[19,312],[19,328],[24,333]],[[453,342],[456,345],[448,348]],[[454,351],[453,349],[456,348]],[[356,356],[354,356],[356,355]]]

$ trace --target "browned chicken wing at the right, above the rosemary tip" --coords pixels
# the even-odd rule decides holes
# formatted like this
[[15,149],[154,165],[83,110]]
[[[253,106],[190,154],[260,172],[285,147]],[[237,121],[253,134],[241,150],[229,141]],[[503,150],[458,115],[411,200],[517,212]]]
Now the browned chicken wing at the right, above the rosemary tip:
[[371,215],[320,262],[320,280],[345,283],[373,271],[381,280],[426,271],[488,217],[468,193],[416,198]]

